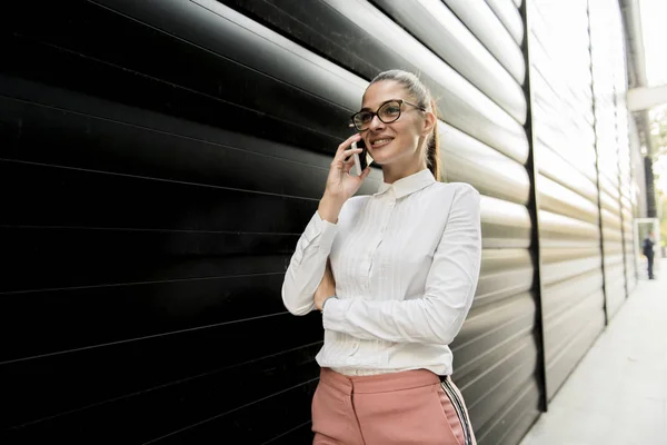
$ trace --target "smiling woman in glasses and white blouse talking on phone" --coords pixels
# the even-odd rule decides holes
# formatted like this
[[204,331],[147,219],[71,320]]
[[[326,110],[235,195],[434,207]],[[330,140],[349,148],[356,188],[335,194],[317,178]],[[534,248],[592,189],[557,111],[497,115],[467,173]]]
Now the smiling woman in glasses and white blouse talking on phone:
[[[313,444],[475,444],[448,345],[477,287],[479,194],[436,180],[435,110],[409,72],[372,80],[287,270],[285,306],[323,318]],[[352,197],[370,171],[349,175],[361,139],[384,184]]]

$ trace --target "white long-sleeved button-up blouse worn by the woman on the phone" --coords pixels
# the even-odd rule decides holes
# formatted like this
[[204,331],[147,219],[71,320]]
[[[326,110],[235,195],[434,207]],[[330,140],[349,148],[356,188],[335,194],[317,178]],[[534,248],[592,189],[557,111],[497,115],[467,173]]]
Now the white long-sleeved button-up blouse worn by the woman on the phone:
[[426,169],[348,199],[337,224],[316,212],[285,276],[290,313],[315,308],[327,258],[338,299],[322,314],[321,367],[346,375],[451,374],[448,345],[470,309],[481,261],[477,190],[437,182]]

